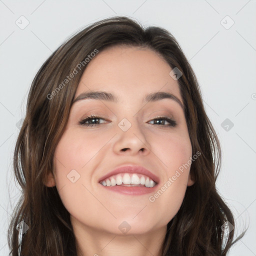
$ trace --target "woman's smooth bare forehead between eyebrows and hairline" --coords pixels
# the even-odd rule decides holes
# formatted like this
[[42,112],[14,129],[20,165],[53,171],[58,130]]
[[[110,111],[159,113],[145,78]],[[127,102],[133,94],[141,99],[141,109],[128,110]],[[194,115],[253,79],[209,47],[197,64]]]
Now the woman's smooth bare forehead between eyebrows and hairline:
[[86,66],[75,97],[90,90],[114,91],[120,98],[166,91],[182,102],[171,67],[156,52],[137,46],[111,46],[99,51]]

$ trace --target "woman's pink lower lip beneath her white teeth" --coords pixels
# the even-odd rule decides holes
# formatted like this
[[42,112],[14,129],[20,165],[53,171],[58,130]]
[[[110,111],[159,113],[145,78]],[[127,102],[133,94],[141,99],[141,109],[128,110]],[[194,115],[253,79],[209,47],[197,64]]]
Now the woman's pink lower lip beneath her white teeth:
[[[100,184],[101,185],[101,184]],[[103,185],[101,185],[103,186]],[[142,194],[147,194],[147,193],[152,193],[155,191],[157,188],[157,184],[153,187],[145,187],[145,186],[103,186],[109,191],[114,191],[118,192],[121,194],[126,194],[126,195],[142,195]]]

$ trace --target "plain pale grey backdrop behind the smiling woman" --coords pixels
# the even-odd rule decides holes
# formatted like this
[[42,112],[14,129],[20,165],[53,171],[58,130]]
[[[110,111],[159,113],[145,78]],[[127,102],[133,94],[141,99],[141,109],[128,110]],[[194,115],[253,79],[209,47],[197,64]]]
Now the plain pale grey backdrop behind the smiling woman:
[[256,255],[255,0],[0,0],[0,255],[20,194],[12,154],[31,81],[60,43],[96,20],[125,15],[169,30],[197,76],[222,148],[217,189],[246,235],[229,255]]

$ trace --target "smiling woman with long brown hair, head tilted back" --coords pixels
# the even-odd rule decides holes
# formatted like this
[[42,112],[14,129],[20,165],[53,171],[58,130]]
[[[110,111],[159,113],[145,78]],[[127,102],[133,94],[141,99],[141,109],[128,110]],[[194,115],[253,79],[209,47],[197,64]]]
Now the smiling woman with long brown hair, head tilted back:
[[14,152],[10,255],[226,255],[220,146],[177,41],[95,22],[36,74]]

